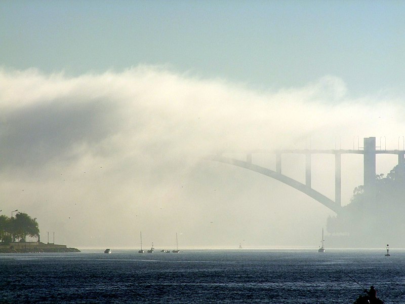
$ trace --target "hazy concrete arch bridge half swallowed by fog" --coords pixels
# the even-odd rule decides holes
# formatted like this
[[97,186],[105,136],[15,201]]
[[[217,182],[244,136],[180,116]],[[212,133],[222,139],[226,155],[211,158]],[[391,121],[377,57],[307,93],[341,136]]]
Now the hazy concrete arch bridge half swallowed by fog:
[[[253,164],[252,155],[255,153],[263,152],[275,155],[275,171]],[[305,184],[299,182],[291,177],[282,174],[281,164],[283,154],[302,154],[305,155]],[[311,159],[312,155],[316,154],[333,154],[335,155],[335,201],[326,197],[325,195],[317,192],[311,187]],[[325,205],[337,214],[342,210],[341,205],[341,155],[342,154],[361,154],[363,155],[363,183],[364,194],[366,198],[373,199],[375,197],[374,183],[376,180],[376,155],[377,154],[396,154],[398,156],[398,164],[405,162],[405,150],[376,150],[376,138],[364,138],[363,149],[358,150],[317,150],[317,149],[292,149],[292,150],[253,150],[247,153],[246,161],[240,161],[233,158],[224,157],[222,155],[209,156],[206,159],[217,161],[225,164],[234,165],[237,167],[245,168],[251,171],[264,174],[274,178],[282,183],[285,183],[298,191],[305,193],[309,197]]]

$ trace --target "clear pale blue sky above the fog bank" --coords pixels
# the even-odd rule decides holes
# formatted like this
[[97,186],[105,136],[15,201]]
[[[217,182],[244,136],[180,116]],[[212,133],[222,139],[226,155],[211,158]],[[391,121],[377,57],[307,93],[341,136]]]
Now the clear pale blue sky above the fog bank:
[[400,92],[404,12],[401,1],[2,1],[0,65],[169,65],[259,89],[333,75],[353,95]]

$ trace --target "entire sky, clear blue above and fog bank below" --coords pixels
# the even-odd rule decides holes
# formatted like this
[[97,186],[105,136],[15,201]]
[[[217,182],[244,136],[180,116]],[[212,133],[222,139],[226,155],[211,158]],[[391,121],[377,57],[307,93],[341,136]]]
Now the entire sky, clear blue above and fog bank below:
[[[0,214],[77,248],[317,248],[335,213],[250,149],[405,142],[401,1],[0,2]],[[274,169],[274,155],[256,155]],[[388,173],[395,156],[378,156]],[[273,167],[272,167],[273,166]],[[302,156],[283,173],[305,181]],[[312,158],[334,198],[334,158]],[[342,157],[342,204],[362,184]],[[49,240],[52,242],[53,240]],[[385,243],[385,241],[383,242]]]

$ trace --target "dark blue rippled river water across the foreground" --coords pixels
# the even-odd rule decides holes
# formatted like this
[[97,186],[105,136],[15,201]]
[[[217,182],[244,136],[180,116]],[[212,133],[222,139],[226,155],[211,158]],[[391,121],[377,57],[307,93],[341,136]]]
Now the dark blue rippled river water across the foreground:
[[405,252],[136,251],[0,255],[2,303],[405,303]]

